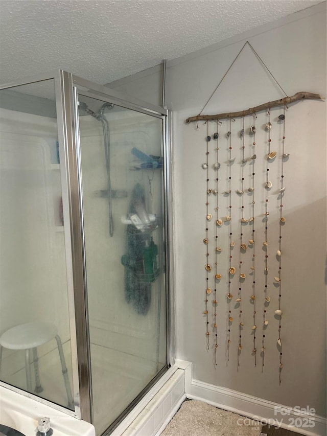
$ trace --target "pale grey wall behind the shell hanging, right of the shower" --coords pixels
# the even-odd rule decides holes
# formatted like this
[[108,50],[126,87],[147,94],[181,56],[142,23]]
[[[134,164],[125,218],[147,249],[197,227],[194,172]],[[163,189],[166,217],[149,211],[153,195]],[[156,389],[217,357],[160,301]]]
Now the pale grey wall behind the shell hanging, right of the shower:
[[[206,342],[206,317],[203,315],[205,299],[206,248],[205,237],[205,175],[201,164],[205,162],[206,125],[198,123],[185,124],[185,119],[198,114],[209,99],[217,84],[235,59],[243,44],[249,40],[254,49],[264,60],[274,77],[285,89],[287,95],[298,91],[311,91],[326,97],[326,4],[321,3],[305,11],[298,12],[269,25],[256,28],[245,34],[230,38],[211,47],[191,53],[167,64],[166,104],[173,110],[173,153],[174,153],[174,222],[175,222],[175,294],[176,294],[176,356],[193,362],[193,378],[239,391],[254,397],[266,399],[288,406],[314,407],[318,415],[326,412],[326,282],[325,282],[325,248],[326,248],[326,103],[308,100],[289,107],[286,111],[286,147],[290,153],[285,162],[285,183],[287,187],[283,197],[283,215],[286,223],[283,232],[283,299],[282,317],[283,363],[282,383],[279,384],[279,350],[276,345],[278,337],[278,320],[273,316],[278,294],[270,276],[270,293],[273,295],[269,320],[266,329],[266,359],[262,366],[260,353],[254,366],[252,354],[253,307],[249,302],[251,284],[245,284],[246,301],[244,304],[243,349],[240,366],[237,365],[239,330],[238,322],[232,324],[230,332],[230,356],[227,361],[227,316],[228,304],[228,260],[219,260],[223,278],[219,284],[218,342],[217,365],[214,364],[214,331],[212,315],[209,325],[209,350]],[[154,67],[135,76],[110,83],[110,87],[124,91],[136,98],[160,104],[161,68]],[[219,89],[214,94],[202,113],[220,113],[246,109],[261,103],[282,98],[283,93],[266,73],[249,47],[246,47],[233,65]],[[272,137],[276,151],[281,153],[283,130],[278,124],[275,109],[271,113]],[[256,164],[256,219],[258,222],[259,247],[256,251],[260,257],[257,265],[264,268],[263,215],[264,211],[264,158],[267,150],[267,133],[264,125],[267,113],[258,114],[254,120],[257,126],[258,154]],[[250,121],[247,121],[249,123]],[[232,125],[233,153],[241,158],[238,132],[240,120]],[[248,131],[249,124],[246,125]],[[209,123],[209,134],[216,131],[216,126]],[[228,148],[226,132],[230,129],[228,122],[218,126],[220,132],[222,172],[220,173],[220,192],[227,183],[226,160]],[[247,135],[246,153],[250,155],[250,137]],[[211,142],[210,150],[214,151]],[[235,144],[235,145],[234,145]],[[212,157],[211,157],[212,158]],[[259,168],[258,168],[259,167]],[[232,180],[239,182],[241,168],[232,167]],[[238,168],[238,169],[237,169]],[[247,181],[251,175],[249,167]],[[270,198],[277,204],[277,184],[280,182],[281,159],[276,159],[272,171],[274,189]],[[233,189],[238,186],[233,185]],[[222,215],[227,215],[227,202],[220,198]],[[233,196],[235,198],[235,195]],[[209,200],[213,209],[213,199]],[[239,207],[237,200],[233,207]],[[248,201],[248,200],[247,200]],[[247,203],[250,216],[250,202]],[[239,212],[238,212],[239,213]],[[239,218],[239,216],[238,216]],[[278,232],[278,214],[273,209],[271,235]],[[228,234],[224,232],[222,245],[228,246]],[[247,239],[248,235],[246,235]],[[275,253],[278,236],[271,238],[271,254]],[[239,243],[239,241],[237,241]],[[234,254],[234,253],[233,253]],[[238,253],[235,253],[238,262]],[[247,255],[248,256],[248,255]],[[272,256],[269,268],[276,268],[277,260]],[[214,260],[212,259],[212,262]],[[248,264],[249,266],[249,264]],[[249,278],[249,277],[248,277]],[[247,278],[247,279],[248,279]],[[264,292],[264,274],[259,275],[256,289],[260,302]],[[223,286],[222,286],[223,285]],[[238,286],[232,283],[233,294]],[[234,295],[231,310],[238,317],[239,308]],[[258,309],[259,310],[259,309]],[[209,306],[212,314],[212,306]],[[238,318],[237,318],[238,319]],[[260,331],[260,350],[262,331]]]

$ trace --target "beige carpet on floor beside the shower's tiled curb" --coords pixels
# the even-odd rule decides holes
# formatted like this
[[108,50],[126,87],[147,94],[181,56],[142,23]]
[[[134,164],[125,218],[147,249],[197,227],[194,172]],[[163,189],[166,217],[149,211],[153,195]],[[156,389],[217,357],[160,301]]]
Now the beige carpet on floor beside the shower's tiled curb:
[[262,425],[202,401],[184,401],[162,436],[260,436]]

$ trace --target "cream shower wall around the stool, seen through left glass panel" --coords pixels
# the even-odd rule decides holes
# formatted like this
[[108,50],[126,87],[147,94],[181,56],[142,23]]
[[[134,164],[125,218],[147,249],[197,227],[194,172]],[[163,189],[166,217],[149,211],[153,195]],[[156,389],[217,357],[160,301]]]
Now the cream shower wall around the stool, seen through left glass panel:
[[[0,109],[0,334],[19,324],[53,323],[71,378],[57,136],[55,118]],[[38,347],[38,355],[44,387],[41,396],[65,405],[56,341]],[[22,350],[4,349],[1,379],[26,389],[24,357]]]

